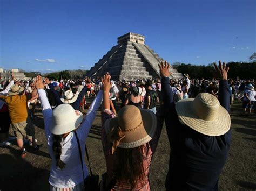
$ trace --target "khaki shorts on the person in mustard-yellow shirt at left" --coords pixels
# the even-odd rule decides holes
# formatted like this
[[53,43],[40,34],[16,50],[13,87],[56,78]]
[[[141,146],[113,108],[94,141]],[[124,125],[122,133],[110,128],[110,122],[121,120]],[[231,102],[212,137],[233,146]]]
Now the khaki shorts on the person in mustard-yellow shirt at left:
[[30,119],[19,123],[13,123],[11,126],[17,139],[22,139],[23,137],[31,139],[33,136],[35,136],[35,127]]

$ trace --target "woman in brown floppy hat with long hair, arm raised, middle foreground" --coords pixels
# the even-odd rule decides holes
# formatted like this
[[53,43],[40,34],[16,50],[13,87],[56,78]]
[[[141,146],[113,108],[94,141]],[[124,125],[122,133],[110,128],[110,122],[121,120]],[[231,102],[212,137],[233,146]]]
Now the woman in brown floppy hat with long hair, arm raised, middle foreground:
[[163,112],[157,116],[134,105],[121,108],[116,117],[110,111],[111,76],[104,75],[102,144],[107,172],[101,190],[150,190],[149,169],[163,126]]

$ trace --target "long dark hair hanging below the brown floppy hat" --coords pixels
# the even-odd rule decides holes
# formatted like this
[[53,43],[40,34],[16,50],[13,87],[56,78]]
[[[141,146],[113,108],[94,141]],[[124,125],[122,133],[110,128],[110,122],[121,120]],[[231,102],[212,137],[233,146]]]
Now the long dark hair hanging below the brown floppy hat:
[[117,181],[128,181],[131,184],[131,190],[136,189],[138,181],[142,182],[142,185],[145,186],[143,160],[148,152],[148,144],[136,148],[118,147],[116,150],[117,164],[114,169]]

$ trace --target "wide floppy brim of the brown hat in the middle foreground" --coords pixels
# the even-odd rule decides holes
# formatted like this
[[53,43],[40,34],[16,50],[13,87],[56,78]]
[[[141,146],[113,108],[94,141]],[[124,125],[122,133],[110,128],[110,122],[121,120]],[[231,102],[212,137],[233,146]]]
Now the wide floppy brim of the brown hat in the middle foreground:
[[[120,148],[136,148],[150,142],[157,129],[156,115],[146,109],[140,109],[142,115],[142,126],[134,131],[126,131],[125,137],[120,140],[118,147]],[[131,119],[132,120],[132,119]],[[105,122],[104,128],[108,135],[114,128],[118,128],[118,118],[111,118]]]

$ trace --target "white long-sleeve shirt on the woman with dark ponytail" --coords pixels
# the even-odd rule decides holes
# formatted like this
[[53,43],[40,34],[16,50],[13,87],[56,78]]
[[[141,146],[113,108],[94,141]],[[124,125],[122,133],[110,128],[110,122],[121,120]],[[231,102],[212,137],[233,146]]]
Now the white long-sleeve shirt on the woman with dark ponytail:
[[[57,188],[70,188],[75,185],[78,185],[83,181],[82,166],[80,163],[80,155],[78,150],[78,144],[76,140],[75,133],[70,132],[69,135],[62,140],[62,154],[60,159],[65,162],[66,166],[63,169],[60,169],[56,166],[55,154],[52,150],[52,133],[49,130],[49,125],[52,122],[52,110],[49,104],[49,101],[46,97],[45,91],[42,89],[38,90],[39,99],[42,105],[42,111],[44,116],[45,124],[45,136],[47,139],[48,150],[52,158],[51,173],[49,178],[49,183]],[[96,117],[96,111],[99,108],[100,103],[102,102],[103,91],[99,91],[96,98],[93,100],[89,111],[87,112],[85,118],[83,119],[82,124],[76,130],[78,139],[80,141],[82,156],[85,155],[85,143],[86,138],[89,134],[89,131],[92,126],[92,122]],[[69,119],[67,119],[68,121]],[[84,177],[86,178],[89,173],[83,158],[84,166]]]

